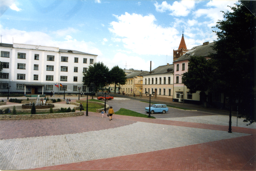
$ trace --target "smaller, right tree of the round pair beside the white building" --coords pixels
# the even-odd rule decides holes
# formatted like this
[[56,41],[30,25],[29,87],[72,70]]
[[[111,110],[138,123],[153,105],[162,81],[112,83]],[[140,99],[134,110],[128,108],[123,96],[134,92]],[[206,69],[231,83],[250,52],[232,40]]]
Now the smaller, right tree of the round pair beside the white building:
[[125,81],[126,81],[126,74],[125,74],[125,71],[118,67],[118,65],[114,66],[110,72],[109,72],[109,80],[110,80],[110,83],[111,84],[115,84],[115,97],[116,97],[116,85],[123,85],[125,84]]

